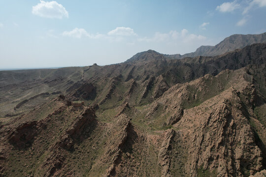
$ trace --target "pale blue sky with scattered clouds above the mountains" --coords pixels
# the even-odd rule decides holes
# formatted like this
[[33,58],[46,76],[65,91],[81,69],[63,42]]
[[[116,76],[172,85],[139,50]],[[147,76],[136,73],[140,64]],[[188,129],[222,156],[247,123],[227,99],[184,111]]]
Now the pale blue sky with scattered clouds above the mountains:
[[266,0],[0,0],[0,69],[106,65],[266,32]]

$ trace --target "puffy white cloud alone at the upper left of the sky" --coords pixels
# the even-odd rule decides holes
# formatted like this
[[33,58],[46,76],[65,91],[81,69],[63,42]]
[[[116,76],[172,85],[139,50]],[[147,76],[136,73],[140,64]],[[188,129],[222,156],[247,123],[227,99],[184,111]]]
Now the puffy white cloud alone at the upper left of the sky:
[[57,1],[46,2],[40,0],[40,3],[33,6],[32,13],[34,15],[46,18],[68,18],[68,12],[66,11],[65,7],[63,7],[62,4],[57,3]]

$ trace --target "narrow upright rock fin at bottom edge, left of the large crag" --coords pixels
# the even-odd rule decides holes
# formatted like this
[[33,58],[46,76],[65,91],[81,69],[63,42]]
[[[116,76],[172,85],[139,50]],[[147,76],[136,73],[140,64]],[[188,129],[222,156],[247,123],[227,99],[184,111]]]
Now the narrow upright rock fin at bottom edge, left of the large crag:
[[167,130],[164,141],[158,153],[158,164],[162,166],[162,177],[171,177],[170,174],[170,142],[175,134],[173,129]]

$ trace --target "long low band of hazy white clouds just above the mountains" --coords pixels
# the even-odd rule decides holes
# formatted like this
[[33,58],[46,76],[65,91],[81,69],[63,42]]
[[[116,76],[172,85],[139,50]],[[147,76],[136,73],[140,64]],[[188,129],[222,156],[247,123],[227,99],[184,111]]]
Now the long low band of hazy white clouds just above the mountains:
[[[205,22],[203,26],[208,25]],[[170,30],[167,33],[155,32],[152,36],[139,36],[131,28],[118,27],[105,34],[93,34],[83,28],[75,28],[70,31],[64,31],[62,36],[72,37],[77,39],[94,39],[104,40],[108,42],[123,43],[128,46],[149,46],[150,48],[156,46],[165,46],[167,50],[180,50],[189,52],[191,49],[197,49],[200,45],[209,45],[209,41],[203,35],[190,33],[187,29],[180,31]],[[167,47],[166,47],[167,46]]]

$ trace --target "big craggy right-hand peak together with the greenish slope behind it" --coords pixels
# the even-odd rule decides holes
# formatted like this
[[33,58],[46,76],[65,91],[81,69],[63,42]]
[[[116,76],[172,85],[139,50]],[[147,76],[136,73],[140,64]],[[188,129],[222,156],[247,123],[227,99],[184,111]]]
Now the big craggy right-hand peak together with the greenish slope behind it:
[[[249,82],[252,77],[244,73],[227,70],[178,84],[147,109],[146,118],[156,123],[166,117],[166,125],[179,129],[188,147],[188,152],[181,153],[188,154],[185,172],[189,176],[196,177],[199,169],[218,177],[253,175],[263,169],[262,151],[249,122],[257,93]],[[213,86],[219,91],[209,89]]]

